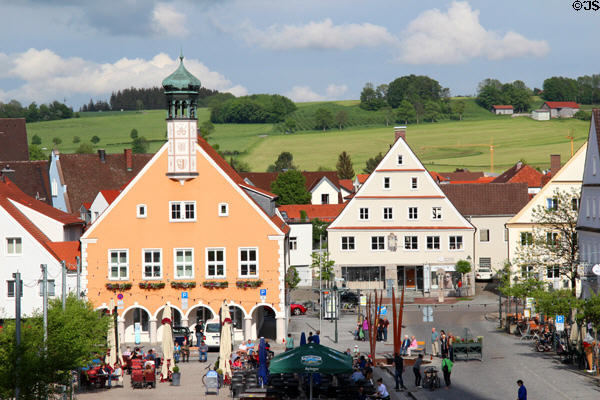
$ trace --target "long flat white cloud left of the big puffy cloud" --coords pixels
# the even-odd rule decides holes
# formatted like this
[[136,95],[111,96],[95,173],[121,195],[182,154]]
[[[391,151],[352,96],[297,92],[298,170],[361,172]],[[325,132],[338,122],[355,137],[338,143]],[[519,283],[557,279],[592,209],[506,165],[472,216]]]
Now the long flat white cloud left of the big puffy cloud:
[[271,50],[350,50],[394,43],[387,28],[370,23],[334,25],[330,18],[306,25],[272,25],[265,30],[242,26],[244,39]]

